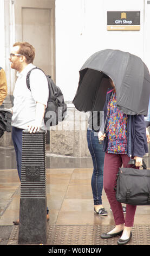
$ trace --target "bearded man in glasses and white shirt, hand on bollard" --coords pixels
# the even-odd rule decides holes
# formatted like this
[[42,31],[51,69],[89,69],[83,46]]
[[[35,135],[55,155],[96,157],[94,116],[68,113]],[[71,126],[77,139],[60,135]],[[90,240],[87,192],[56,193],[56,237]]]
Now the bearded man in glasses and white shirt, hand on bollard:
[[[21,180],[22,131],[30,133],[45,130],[44,113],[49,96],[48,81],[44,73],[37,69],[30,74],[30,88],[27,88],[26,77],[32,68],[35,48],[28,42],[16,42],[10,53],[11,68],[17,71],[14,89],[14,106],[12,107],[12,141],[16,152],[17,170]],[[47,219],[49,219],[47,211]],[[19,224],[19,221],[14,221]]]

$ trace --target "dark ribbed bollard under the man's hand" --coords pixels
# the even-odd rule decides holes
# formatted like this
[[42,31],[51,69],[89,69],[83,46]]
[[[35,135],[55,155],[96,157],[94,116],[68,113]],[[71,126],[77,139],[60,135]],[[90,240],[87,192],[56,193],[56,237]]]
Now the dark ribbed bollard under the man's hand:
[[45,131],[23,130],[19,244],[47,242]]

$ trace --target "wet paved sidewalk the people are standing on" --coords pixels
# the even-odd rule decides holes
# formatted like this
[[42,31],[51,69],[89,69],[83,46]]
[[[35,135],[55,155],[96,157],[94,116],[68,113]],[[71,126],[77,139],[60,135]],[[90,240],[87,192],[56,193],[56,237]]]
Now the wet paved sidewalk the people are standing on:
[[[50,209],[47,245],[116,245],[118,237],[108,240],[102,240],[100,237],[103,231],[113,228],[114,220],[105,192],[102,199],[108,216],[100,217],[93,211],[90,159],[84,159],[84,163],[81,163],[80,159],[82,167],[76,168],[68,168],[69,162],[73,161],[72,158],[68,157],[63,161],[61,157],[57,159],[60,159],[62,168],[51,168],[49,157],[47,159],[47,205]],[[79,164],[75,161],[70,162],[70,166]],[[90,168],[87,168],[87,161]],[[146,158],[146,162],[149,164],[149,157]],[[18,226],[12,222],[19,217],[19,193],[17,170],[1,169],[0,245],[18,245]],[[150,206],[137,207],[133,237],[129,245],[150,245],[149,216]]]

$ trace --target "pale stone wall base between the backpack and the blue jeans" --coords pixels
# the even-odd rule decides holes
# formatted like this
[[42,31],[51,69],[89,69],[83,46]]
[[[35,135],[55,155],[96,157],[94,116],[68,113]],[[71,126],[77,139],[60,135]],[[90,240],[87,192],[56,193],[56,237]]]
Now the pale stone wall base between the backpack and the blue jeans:
[[90,156],[87,146],[88,113],[68,106],[67,117],[50,127],[50,153],[74,157]]

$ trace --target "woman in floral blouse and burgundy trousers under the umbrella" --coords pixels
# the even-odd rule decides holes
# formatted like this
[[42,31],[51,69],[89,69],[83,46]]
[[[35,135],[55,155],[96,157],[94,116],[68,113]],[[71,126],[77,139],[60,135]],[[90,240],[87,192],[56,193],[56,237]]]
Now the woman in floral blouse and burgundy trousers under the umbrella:
[[[104,113],[106,118],[105,133],[99,132],[99,139],[104,141],[105,162],[103,170],[103,187],[107,194],[110,207],[113,211],[115,228],[108,233],[101,234],[103,239],[121,235],[118,244],[127,243],[132,237],[132,226],[136,205],[127,204],[126,218],[123,215],[122,205],[115,197],[115,179],[119,167],[130,167],[130,158],[135,159],[135,168],[142,165],[142,157],[148,152],[144,115],[127,115],[121,112],[116,105],[116,91],[107,93]],[[129,122],[129,119],[131,120]],[[129,132],[131,132],[131,149],[129,150]]]

